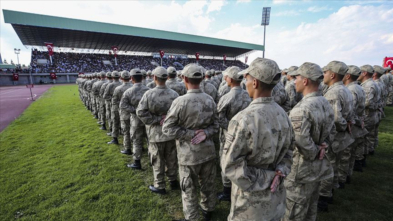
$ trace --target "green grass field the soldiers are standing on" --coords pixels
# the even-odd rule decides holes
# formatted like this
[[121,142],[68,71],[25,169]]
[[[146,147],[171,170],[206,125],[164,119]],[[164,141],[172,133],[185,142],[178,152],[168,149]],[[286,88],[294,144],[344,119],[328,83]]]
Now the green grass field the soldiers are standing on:
[[[337,190],[318,220],[391,220],[393,108],[386,108],[379,147],[363,173]],[[77,86],[55,86],[0,134],[0,220],[171,220],[182,218],[180,190],[156,195],[147,150],[142,171],[126,167],[79,100]],[[121,140],[121,139],[119,139]],[[218,151],[217,151],[218,152]],[[217,190],[222,190],[217,173]],[[167,185],[169,186],[169,185]],[[230,203],[218,202],[214,220]]]

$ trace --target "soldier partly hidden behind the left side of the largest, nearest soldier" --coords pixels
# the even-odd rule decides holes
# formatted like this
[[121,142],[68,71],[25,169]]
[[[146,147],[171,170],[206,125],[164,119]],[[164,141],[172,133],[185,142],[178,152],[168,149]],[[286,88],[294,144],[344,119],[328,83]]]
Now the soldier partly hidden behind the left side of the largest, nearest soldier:
[[[225,72],[226,82],[231,88],[230,92],[220,98],[217,110],[219,113],[219,124],[220,124],[220,153],[219,159],[222,155],[222,149],[225,144],[225,134],[228,131],[228,123],[238,112],[248,107],[251,103],[251,98],[248,96],[246,90],[240,87],[240,83],[244,76],[238,74],[242,72],[241,68],[232,66]],[[243,71],[245,72],[245,71]],[[231,180],[228,179],[224,173],[221,172],[222,184],[224,190],[222,193],[217,195],[217,199],[223,201],[231,201]]]

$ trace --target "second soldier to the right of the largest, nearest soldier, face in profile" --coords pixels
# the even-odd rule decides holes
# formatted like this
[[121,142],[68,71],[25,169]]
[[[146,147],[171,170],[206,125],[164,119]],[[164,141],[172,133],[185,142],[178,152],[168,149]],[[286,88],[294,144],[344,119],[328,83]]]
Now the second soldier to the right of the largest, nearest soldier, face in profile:
[[327,149],[327,158],[329,158],[334,177],[325,179],[321,182],[320,198],[318,201],[318,210],[327,211],[327,203],[332,202],[333,188],[339,188],[338,180],[340,176],[346,176],[347,170],[339,167],[342,160],[342,153],[349,145],[354,142],[351,134],[352,119],[352,94],[343,85],[342,79],[345,76],[348,67],[340,61],[332,61],[323,67],[323,82],[329,86],[323,97],[329,101],[334,112],[334,125],[337,134],[334,136],[332,145]]

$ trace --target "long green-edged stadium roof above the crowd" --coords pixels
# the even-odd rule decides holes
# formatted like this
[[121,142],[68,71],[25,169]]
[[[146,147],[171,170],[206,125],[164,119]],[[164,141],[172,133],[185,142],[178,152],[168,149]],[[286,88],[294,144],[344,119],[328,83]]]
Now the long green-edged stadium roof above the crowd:
[[52,42],[59,48],[110,50],[222,57],[240,57],[264,46],[197,35],[138,28],[73,18],[38,15],[3,9],[4,21],[15,29],[22,44],[44,46]]

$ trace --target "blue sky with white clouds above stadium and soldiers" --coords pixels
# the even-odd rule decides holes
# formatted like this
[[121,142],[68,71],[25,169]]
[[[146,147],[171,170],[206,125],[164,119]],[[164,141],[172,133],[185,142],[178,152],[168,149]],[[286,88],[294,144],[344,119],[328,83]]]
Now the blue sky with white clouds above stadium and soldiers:
[[[30,63],[31,51],[4,23],[2,9],[263,45],[263,7],[272,7],[265,57],[281,69],[333,60],[382,65],[384,57],[393,57],[393,1],[374,0],[0,1],[0,53],[17,63],[13,49],[20,48],[20,64]],[[247,63],[262,54],[250,54]]]

